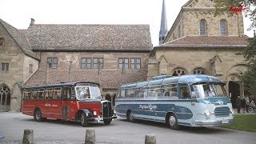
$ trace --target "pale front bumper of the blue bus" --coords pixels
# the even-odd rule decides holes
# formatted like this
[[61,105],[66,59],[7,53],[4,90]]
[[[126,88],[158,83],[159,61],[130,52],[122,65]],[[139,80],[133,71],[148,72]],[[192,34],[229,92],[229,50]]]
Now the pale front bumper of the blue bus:
[[230,124],[234,119],[223,119],[223,120],[215,120],[215,121],[198,121],[195,120],[194,124],[196,126],[219,126],[223,124]]

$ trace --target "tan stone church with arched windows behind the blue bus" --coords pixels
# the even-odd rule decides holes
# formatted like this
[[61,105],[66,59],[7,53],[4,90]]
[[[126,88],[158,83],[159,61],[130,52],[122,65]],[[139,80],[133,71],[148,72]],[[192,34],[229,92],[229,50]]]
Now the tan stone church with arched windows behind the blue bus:
[[190,0],[182,6],[164,43],[155,46],[149,58],[148,78],[170,74],[210,74],[226,82],[232,102],[244,96],[238,74],[247,63],[238,52],[248,42],[241,14],[214,17],[214,2]]

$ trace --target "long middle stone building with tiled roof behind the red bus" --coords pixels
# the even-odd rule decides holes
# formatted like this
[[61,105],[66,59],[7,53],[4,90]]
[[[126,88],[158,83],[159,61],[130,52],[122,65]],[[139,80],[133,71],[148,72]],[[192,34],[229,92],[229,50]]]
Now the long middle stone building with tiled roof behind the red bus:
[[150,26],[40,25],[32,19],[25,34],[41,61],[24,86],[97,82],[114,105],[118,86],[146,80]]

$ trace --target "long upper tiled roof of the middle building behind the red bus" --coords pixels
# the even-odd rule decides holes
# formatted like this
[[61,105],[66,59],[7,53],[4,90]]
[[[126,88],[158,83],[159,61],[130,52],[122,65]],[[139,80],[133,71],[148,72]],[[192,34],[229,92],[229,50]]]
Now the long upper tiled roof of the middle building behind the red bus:
[[33,50],[153,49],[148,25],[41,25],[26,31]]

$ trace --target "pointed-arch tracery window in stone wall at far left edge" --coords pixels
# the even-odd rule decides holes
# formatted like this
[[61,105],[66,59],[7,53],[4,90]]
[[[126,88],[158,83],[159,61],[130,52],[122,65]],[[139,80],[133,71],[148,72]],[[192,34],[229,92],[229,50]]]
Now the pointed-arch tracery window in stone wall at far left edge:
[[0,85],[0,111],[10,110],[10,89],[5,85]]

